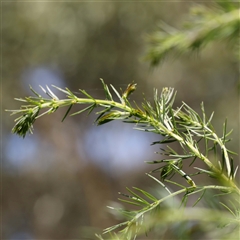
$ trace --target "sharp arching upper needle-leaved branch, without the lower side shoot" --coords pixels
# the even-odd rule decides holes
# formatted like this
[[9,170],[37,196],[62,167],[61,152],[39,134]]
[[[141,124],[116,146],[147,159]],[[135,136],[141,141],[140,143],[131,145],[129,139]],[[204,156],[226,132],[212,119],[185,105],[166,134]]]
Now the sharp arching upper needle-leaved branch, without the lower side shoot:
[[[119,102],[117,102],[113,100],[108,86],[102,79],[101,81],[106,95],[106,99],[104,100],[95,99],[84,90],[80,90],[80,92],[87,98],[79,98],[69,89],[61,89],[56,86],[54,87],[59,91],[64,92],[68,99],[59,99],[48,87],[46,87],[46,89],[41,87],[45,94],[50,97],[43,98],[39,93],[31,88],[32,92],[36,96],[26,97],[25,99],[16,99],[26,103],[26,105],[23,105],[20,110],[10,110],[12,114],[22,114],[15,120],[16,124],[13,128],[13,133],[25,137],[27,132],[32,133],[33,123],[36,119],[45,114],[53,113],[61,107],[69,107],[63,117],[63,120],[67,117],[74,105],[87,104],[89,106],[72,113],[71,115],[80,114],[84,111],[91,112],[94,108],[101,107],[103,110],[97,112],[99,115],[96,120],[97,124],[105,124],[112,120],[123,120],[124,122],[135,123],[138,130],[155,132],[162,135],[164,140],[159,143],[177,141],[183,149],[187,148],[188,151],[185,152],[185,157],[181,157],[177,154],[171,154],[172,156],[176,156],[176,159],[174,160],[175,163],[177,161],[181,162],[182,159],[189,158],[189,156],[199,158],[209,167],[210,171],[213,172],[215,176],[217,175],[224,182],[227,182],[231,187],[233,187],[238,193],[240,193],[239,188],[236,186],[234,181],[232,181],[232,166],[228,156],[228,149],[224,145],[227,141],[226,133],[224,133],[223,138],[219,138],[217,136],[210,124],[212,117],[208,121],[206,120],[203,105],[203,119],[201,119],[200,116],[185,103],[175,110],[172,107],[176,96],[174,89],[163,88],[160,95],[157,90],[154,91],[153,106],[150,102],[145,100],[142,104],[143,109],[140,109],[137,105],[134,108],[128,98],[129,95],[135,91],[136,84],[129,84],[123,94],[120,94],[111,85],[111,88],[119,98]],[[44,109],[47,110],[40,114],[40,111]],[[225,175],[223,168],[215,166],[208,157],[200,151],[198,143],[193,136],[210,140],[213,139],[214,144],[218,143],[223,152],[227,175]],[[174,171],[176,171],[176,167],[179,164],[176,165],[175,163],[172,164],[169,162],[168,167],[170,168],[170,172],[173,171],[174,168]]]

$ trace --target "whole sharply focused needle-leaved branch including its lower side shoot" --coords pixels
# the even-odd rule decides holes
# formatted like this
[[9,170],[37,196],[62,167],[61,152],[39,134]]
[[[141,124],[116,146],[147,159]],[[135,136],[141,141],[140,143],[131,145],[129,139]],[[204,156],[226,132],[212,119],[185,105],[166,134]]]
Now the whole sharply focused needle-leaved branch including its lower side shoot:
[[[15,119],[16,123],[12,131],[13,133],[16,133],[22,137],[25,137],[27,133],[33,133],[34,122],[45,114],[51,114],[61,107],[68,107],[63,117],[64,120],[72,111],[73,106],[88,105],[80,111],[73,112],[70,114],[70,116],[83,112],[90,113],[93,109],[100,107],[102,110],[96,112],[98,115],[96,119],[98,125],[108,123],[112,120],[122,120],[126,123],[135,124],[135,128],[138,130],[154,132],[161,135],[162,140],[159,142],[154,142],[153,144],[166,144],[171,142],[179,143],[183,153],[179,154],[174,149],[167,146],[167,149],[162,149],[161,153],[162,155],[167,156],[166,158],[148,162],[151,164],[165,164],[152,171],[152,173],[160,172],[162,181],[149,174],[147,175],[160,184],[161,187],[168,192],[168,195],[158,199],[150,193],[147,193],[139,188],[134,188],[134,190],[138,193],[127,189],[130,192],[130,195],[122,194],[122,196],[127,197],[128,199],[120,200],[142,208],[139,211],[122,211],[123,214],[130,217],[130,220],[107,228],[105,229],[104,233],[113,231],[118,227],[125,227],[122,230],[122,233],[132,236],[131,233],[136,230],[137,226],[142,224],[146,214],[154,212],[160,207],[160,205],[162,205],[163,202],[166,202],[170,198],[183,193],[184,197],[182,199],[182,204],[185,204],[188,196],[202,192],[202,195],[198,198],[194,205],[201,200],[207,189],[224,191],[228,194],[236,193],[237,196],[240,196],[240,189],[234,181],[237,167],[235,168],[233,166],[232,157],[231,160],[229,160],[229,154],[233,153],[229,151],[225,145],[229,141],[227,137],[230,134],[226,132],[226,121],[223,127],[223,136],[218,137],[213,126],[211,125],[213,114],[209,119],[207,119],[203,104],[202,117],[200,117],[199,114],[196,113],[186,103],[183,103],[180,108],[173,108],[176,96],[176,92],[174,92],[173,88],[163,88],[160,94],[158,94],[158,91],[155,89],[153,104],[144,99],[142,108],[140,108],[137,104],[135,104],[133,107],[133,104],[129,101],[129,96],[135,91],[136,84],[129,84],[122,94],[120,94],[112,85],[110,85],[113,92],[119,99],[119,101],[115,101],[112,97],[109,87],[102,79],[101,81],[106,96],[105,99],[95,99],[85,90],[80,90],[85,97],[79,98],[68,88],[61,89],[56,86],[54,87],[65,93],[67,98],[59,99],[49,87],[46,87],[46,89],[41,87],[42,91],[49,97],[44,98],[30,87],[35,96],[26,97],[24,99],[16,99],[24,103],[24,105],[22,105],[19,110],[8,111],[10,111],[12,115],[20,114],[20,116]],[[202,139],[205,141],[205,152],[199,147],[199,142]],[[219,146],[221,149],[222,163],[219,161],[220,166],[211,162],[208,158],[208,152],[210,151],[213,151],[215,155],[217,154],[217,146]],[[199,170],[199,172],[196,174],[205,173],[212,177],[217,177],[218,180],[220,180],[220,182],[224,185],[210,185],[201,187],[200,185],[195,184],[192,178],[182,170],[184,160],[189,158],[193,158],[192,162],[194,162],[196,159],[200,159],[209,168],[206,170],[195,167],[195,169]],[[226,168],[224,166],[226,166]],[[172,177],[175,173],[180,174],[183,178],[185,178],[190,187],[185,187],[177,182],[167,179]],[[163,183],[164,180],[166,180],[168,183],[177,185],[181,189],[172,193]],[[141,197],[140,195],[144,195],[144,197]],[[135,230],[132,231],[132,229]],[[134,234],[136,235],[136,231]],[[128,239],[131,239],[131,237]]]

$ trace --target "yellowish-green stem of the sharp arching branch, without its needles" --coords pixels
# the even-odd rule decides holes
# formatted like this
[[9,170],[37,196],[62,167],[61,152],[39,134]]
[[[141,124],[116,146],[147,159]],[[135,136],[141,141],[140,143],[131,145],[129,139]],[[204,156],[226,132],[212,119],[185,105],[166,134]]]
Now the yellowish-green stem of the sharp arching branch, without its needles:
[[[128,112],[130,114],[130,116],[134,116],[138,119],[144,120],[144,122],[147,122],[154,128],[159,129],[159,132],[163,132],[164,135],[170,136],[170,137],[176,139],[181,145],[187,146],[195,154],[195,156],[197,156],[199,159],[201,159],[212,171],[217,173],[224,182],[228,182],[230,184],[230,186],[233,187],[236,190],[236,192],[240,195],[240,189],[233,182],[233,180],[229,179],[229,177],[227,177],[224,173],[222,173],[221,170],[219,170],[217,167],[215,167],[206,156],[204,156],[202,153],[200,153],[199,149],[194,145],[194,143],[192,141],[188,141],[188,140],[184,139],[181,135],[179,135],[179,133],[176,133],[174,131],[174,128],[170,129],[169,126],[166,127],[164,125],[164,123],[160,122],[159,120],[156,120],[152,116],[147,115],[147,113],[141,111],[140,109],[134,109],[132,107],[129,107],[128,105],[125,104],[125,102],[119,103],[119,102],[115,102],[113,100],[78,98],[76,96],[73,96],[71,99],[62,99],[62,100],[52,99],[50,101],[48,100],[47,102],[42,99],[40,99],[39,102],[33,101],[31,99],[26,99],[24,101],[37,105],[37,106],[34,106],[34,105],[28,106],[27,109],[29,110],[29,112],[33,111],[34,109],[36,110],[35,112],[37,112],[37,109],[43,109],[43,108],[50,108],[50,109],[54,110],[54,109],[57,109],[58,107],[65,107],[65,106],[69,106],[69,105],[73,105],[73,104],[95,104],[96,106],[100,106],[100,107],[111,106],[111,107],[121,109],[125,112]],[[25,114],[26,109],[23,109],[22,111],[24,111],[24,114]],[[13,113],[16,113],[16,112],[13,111]],[[39,117],[40,116],[41,115],[39,115]],[[37,118],[37,115],[34,117],[31,124],[33,124],[33,122],[36,118]],[[225,160],[228,163],[227,171],[228,171],[228,176],[229,176],[229,171],[230,171],[229,170],[229,158],[228,158],[226,147],[222,143],[221,139],[219,139],[214,132],[212,132],[206,126],[205,126],[205,129],[208,132],[211,132],[211,134],[213,135],[213,137],[216,139],[216,141],[220,145],[221,149],[223,150]],[[176,194],[178,194],[178,193],[176,192]]]

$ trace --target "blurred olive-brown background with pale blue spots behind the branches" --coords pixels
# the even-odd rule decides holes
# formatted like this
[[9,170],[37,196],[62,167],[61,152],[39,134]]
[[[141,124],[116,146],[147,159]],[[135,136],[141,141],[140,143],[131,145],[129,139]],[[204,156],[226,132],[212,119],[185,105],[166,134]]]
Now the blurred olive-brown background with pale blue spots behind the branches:
[[[2,2],[2,237],[3,239],[94,239],[118,222],[106,206],[125,187],[154,189],[144,163],[159,159],[158,135],[95,116],[67,117],[66,109],[35,123],[25,139],[11,133],[16,97],[29,85],[84,89],[104,98],[99,78],[116,89],[138,84],[131,96],[152,100],[153,88],[170,86],[196,111],[204,101],[221,135],[228,118],[238,146],[238,63],[227,43],[215,42],[192,56],[167,59],[151,68],[143,61],[146,36],[161,21],[174,27],[193,3],[182,2]],[[55,89],[53,91],[58,93]],[[79,97],[82,95],[80,93]],[[76,110],[76,108],[75,108]],[[121,220],[121,219],[120,219]]]

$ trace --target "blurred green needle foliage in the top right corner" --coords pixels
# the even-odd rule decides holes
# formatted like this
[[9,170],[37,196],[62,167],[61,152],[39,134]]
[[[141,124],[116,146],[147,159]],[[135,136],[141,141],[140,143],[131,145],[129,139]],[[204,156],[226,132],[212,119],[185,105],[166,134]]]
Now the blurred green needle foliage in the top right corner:
[[178,56],[225,40],[231,43],[239,57],[239,27],[239,4],[235,1],[217,2],[213,9],[194,6],[181,30],[162,23],[161,29],[148,37],[150,47],[146,59],[157,65],[168,55]]

